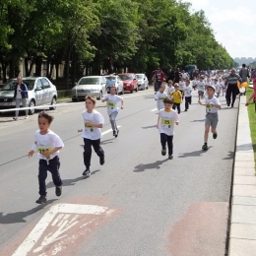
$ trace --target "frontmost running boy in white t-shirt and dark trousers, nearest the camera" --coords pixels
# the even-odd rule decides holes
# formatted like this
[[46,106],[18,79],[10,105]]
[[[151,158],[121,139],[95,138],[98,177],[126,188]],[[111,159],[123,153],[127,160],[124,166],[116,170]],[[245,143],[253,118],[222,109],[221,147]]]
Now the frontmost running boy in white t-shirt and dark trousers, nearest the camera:
[[59,174],[60,160],[58,155],[64,144],[60,137],[49,129],[52,120],[53,116],[45,111],[39,113],[37,119],[39,130],[35,132],[35,142],[32,145],[32,150],[28,153],[29,158],[33,156],[34,152],[38,153],[40,197],[35,201],[37,204],[46,203],[47,201],[45,184],[47,170],[51,173],[56,196],[59,197],[62,192],[62,180]]

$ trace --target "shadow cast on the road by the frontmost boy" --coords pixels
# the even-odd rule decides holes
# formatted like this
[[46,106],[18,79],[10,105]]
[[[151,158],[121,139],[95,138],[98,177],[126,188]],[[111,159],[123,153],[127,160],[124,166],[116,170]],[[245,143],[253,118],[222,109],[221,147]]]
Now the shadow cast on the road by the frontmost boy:
[[42,210],[45,206],[52,204],[57,199],[51,199],[47,201],[45,204],[38,205],[35,208],[32,208],[32,210],[29,210],[27,212],[17,212],[12,214],[7,214],[3,216],[3,213],[0,213],[0,224],[19,224],[19,223],[27,223],[25,218],[28,216],[31,216],[38,211]]

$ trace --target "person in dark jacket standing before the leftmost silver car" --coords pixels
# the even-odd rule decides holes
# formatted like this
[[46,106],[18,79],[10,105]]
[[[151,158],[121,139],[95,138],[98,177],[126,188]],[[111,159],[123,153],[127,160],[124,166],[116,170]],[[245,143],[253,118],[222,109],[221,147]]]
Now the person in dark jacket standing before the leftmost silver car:
[[[27,98],[28,98],[28,88],[27,86],[23,83],[23,79],[21,77],[17,78],[17,84],[15,85],[14,88],[14,99],[16,102],[16,108],[20,108],[21,102],[23,103],[23,107],[27,107]],[[28,112],[29,110],[26,109],[26,119],[29,117]],[[13,119],[17,121],[19,116],[19,110],[15,111],[15,117]]]

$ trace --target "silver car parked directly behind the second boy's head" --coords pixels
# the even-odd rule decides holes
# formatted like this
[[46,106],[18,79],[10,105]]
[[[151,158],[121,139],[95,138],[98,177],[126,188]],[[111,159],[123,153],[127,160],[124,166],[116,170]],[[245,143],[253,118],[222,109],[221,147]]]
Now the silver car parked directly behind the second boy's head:
[[85,99],[85,96],[96,96],[101,99],[106,94],[105,77],[88,76],[81,78],[77,85],[72,89],[72,101]]

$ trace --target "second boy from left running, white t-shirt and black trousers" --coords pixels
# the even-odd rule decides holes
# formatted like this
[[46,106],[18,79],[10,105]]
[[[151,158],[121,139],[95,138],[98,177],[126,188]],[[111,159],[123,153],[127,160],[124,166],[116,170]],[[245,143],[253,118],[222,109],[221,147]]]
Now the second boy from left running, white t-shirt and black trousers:
[[104,118],[103,116],[95,110],[96,107],[96,97],[86,96],[86,108],[83,111],[82,116],[84,119],[83,129],[78,130],[82,132],[82,138],[84,138],[84,163],[86,170],[83,172],[84,176],[91,176],[91,159],[92,159],[92,146],[96,152],[97,157],[99,157],[100,165],[103,165],[104,152],[100,147],[101,131],[100,128],[103,127]]

